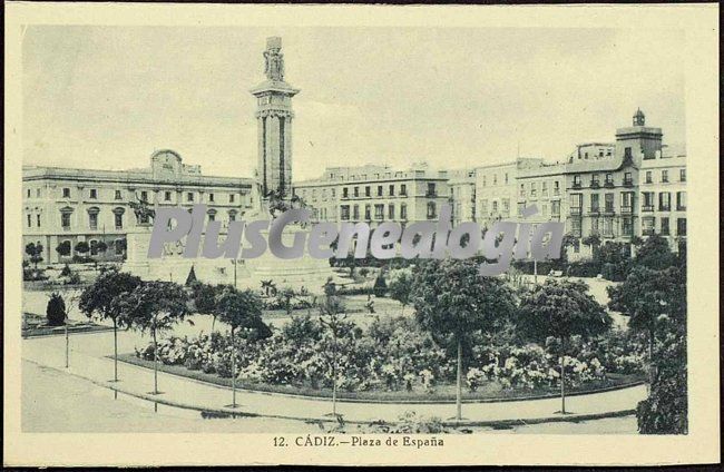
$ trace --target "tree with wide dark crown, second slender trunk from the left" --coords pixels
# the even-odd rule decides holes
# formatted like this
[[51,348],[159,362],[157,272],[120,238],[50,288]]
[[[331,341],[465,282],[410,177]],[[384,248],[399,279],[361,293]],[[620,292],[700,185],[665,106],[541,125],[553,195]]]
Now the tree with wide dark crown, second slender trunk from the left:
[[184,288],[173,282],[141,282],[133,292],[116,298],[131,326],[150,332],[154,341],[154,394],[158,394],[158,333],[170,330],[189,314]]

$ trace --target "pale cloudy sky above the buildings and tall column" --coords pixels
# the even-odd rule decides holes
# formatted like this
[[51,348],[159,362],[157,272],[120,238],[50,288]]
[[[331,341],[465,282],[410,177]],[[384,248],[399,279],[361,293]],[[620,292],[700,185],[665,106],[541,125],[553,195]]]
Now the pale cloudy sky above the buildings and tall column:
[[252,176],[265,38],[281,36],[294,180],[325,166],[565,158],[640,107],[685,142],[672,29],[33,26],[23,37],[23,164],[127,169],[170,148]]

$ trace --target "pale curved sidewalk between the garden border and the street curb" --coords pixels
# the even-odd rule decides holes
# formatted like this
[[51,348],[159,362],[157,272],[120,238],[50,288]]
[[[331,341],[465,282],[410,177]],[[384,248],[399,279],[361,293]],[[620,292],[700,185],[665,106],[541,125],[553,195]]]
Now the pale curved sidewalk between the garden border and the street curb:
[[[130,333],[119,334],[119,352],[133,351],[139,343]],[[138,344],[140,345],[140,344]],[[273,393],[237,391],[237,409],[229,409],[231,389],[199,381],[158,373],[158,390],[154,395],[154,372],[148,368],[118,364],[119,382],[110,380],[114,362],[106,357],[112,351],[112,333],[81,334],[71,338],[70,368],[65,368],[65,337],[50,336],[22,341],[22,358],[87,378],[98,385],[115,389],[137,397],[178,407],[260,415],[304,421],[330,421],[331,400],[302,399]],[[610,392],[578,395],[566,399],[566,410],[573,414],[561,416],[560,399],[528,400],[502,403],[468,403],[462,405],[463,423],[492,424],[498,422],[541,422],[562,419],[583,420],[630,413],[646,397],[646,386],[637,385]],[[393,404],[337,402],[336,411],[350,423],[375,420],[394,422],[404,412],[414,411],[420,416],[448,420],[454,416],[454,404]]]

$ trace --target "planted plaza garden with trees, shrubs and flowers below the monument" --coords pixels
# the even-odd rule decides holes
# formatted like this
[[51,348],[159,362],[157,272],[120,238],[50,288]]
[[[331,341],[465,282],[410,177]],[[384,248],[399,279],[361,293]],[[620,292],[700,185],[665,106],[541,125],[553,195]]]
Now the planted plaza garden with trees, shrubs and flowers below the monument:
[[[579,279],[532,284],[515,269],[480,277],[479,262],[446,259],[356,274],[352,266],[358,288],[329,282],[319,295],[273,281],[239,291],[107,269],[78,307],[115,330],[150,334],[135,353],[116,353],[121,362],[231,385],[233,404],[243,387],[334,401],[456,401],[461,417],[466,400],[559,395],[565,413],[568,394],[648,381],[639,431],[685,432],[684,246],[675,254],[654,236],[634,257],[598,254],[606,250],[615,260],[599,268],[620,281],[609,284],[607,306]],[[392,313],[375,313],[385,303]],[[212,330],[176,335],[192,314],[212,317]]]

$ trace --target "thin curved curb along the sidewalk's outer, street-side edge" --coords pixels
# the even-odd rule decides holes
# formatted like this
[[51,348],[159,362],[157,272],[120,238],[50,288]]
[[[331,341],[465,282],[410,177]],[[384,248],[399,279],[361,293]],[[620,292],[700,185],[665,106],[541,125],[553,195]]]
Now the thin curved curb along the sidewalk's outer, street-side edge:
[[[331,419],[331,417],[309,417],[309,416],[290,416],[290,415],[280,415],[280,414],[261,414],[261,413],[253,413],[253,412],[245,412],[242,410],[234,410],[229,407],[224,407],[224,406],[216,406],[216,407],[208,407],[208,406],[200,406],[200,405],[195,405],[190,403],[182,403],[182,402],[176,402],[173,400],[166,400],[159,396],[155,396],[153,394],[145,394],[145,393],[136,393],[128,391],[126,389],[118,387],[117,385],[114,385],[112,383],[106,381],[97,381],[95,378],[87,377],[85,375],[67,372],[62,368],[59,367],[53,367],[53,366],[48,366],[40,364],[36,361],[23,358],[26,362],[30,362],[32,364],[36,364],[38,366],[45,367],[45,368],[51,368],[56,372],[61,372],[63,374],[72,375],[78,378],[86,380],[94,385],[108,389],[115,392],[123,393],[128,396],[133,396],[136,399],[140,400],[146,400],[148,402],[153,403],[158,403],[162,405],[167,405],[167,406],[173,406],[182,410],[194,410],[198,411],[200,413],[216,413],[216,414],[222,414],[222,415],[228,415],[232,417],[270,417],[270,419],[278,419],[278,420],[294,420],[294,421],[303,421],[306,423],[327,423],[327,422],[336,422],[337,420]],[[133,364],[131,364],[133,365]],[[173,374],[172,374],[173,375]],[[600,419],[606,419],[606,417],[620,417],[620,416],[627,416],[630,414],[636,413],[636,410],[620,410],[620,411],[613,411],[613,412],[604,412],[604,413],[591,413],[591,414],[576,414],[571,413],[567,416],[542,416],[542,417],[532,417],[532,419],[512,419],[512,420],[489,420],[489,421],[443,421],[441,422],[442,425],[444,426],[489,426],[489,427],[495,427],[495,426],[513,426],[513,425],[527,425],[527,424],[539,424],[539,423],[560,423],[560,422],[567,422],[567,423],[577,423],[580,421],[589,421],[589,420],[600,420]],[[343,415],[339,415],[340,417],[343,419]],[[344,420],[345,423],[349,424],[380,424],[381,420]],[[399,424],[399,421],[383,421],[384,424],[389,425],[395,425]]]

